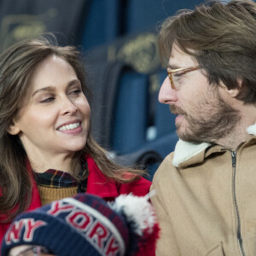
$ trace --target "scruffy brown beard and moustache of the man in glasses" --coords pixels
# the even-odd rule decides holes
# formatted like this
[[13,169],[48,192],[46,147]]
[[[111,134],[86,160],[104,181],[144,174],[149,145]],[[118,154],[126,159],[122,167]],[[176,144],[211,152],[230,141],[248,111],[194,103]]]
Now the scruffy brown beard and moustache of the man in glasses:
[[170,106],[171,112],[182,114],[187,120],[187,127],[184,131],[181,125],[177,124],[177,136],[189,143],[216,143],[221,138],[228,136],[234,131],[241,119],[238,111],[224,102],[214,90],[212,97],[204,97],[197,105],[190,108],[189,113],[182,108]]

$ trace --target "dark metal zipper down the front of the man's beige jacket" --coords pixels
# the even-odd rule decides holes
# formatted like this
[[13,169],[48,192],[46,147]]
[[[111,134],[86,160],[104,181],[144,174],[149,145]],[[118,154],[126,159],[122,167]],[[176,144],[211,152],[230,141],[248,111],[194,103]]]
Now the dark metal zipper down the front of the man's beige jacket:
[[237,239],[239,241],[239,248],[241,251],[242,256],[246,256],[246,253],[244,251],[244,247],[242,244],[241,239],[241,220],[239,216],[237,201],[236,201],[236,151],[231,152],[232,155],[232,168],[233,168],[233,198],[234,198],[234,205],[235,205],[235,212],[236,212],[236,222],[237,222]]

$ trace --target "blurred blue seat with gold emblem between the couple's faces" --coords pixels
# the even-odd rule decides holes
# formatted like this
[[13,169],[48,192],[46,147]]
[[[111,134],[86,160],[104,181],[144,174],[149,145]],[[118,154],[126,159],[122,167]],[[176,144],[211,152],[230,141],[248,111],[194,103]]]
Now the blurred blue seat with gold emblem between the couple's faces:
[[90,50],[85,62],[94,92],[96,140],[122,164],[155,169],[177,143],[174,115],[158,102],[166,71],[160,66],[156,33],[119,38]]

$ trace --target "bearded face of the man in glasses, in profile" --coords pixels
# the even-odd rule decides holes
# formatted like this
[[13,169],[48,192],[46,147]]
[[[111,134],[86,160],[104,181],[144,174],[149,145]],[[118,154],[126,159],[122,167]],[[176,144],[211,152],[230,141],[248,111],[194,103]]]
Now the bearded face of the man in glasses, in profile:
[[[170,69],[196,67],[198,63],[173,44]],[[237,110],[224,101],[224,86],[209,84],[203,69],[172,73],[176,88],[166,77],[161,85],[159,101],[177,114],[177,135],[190,143],[215,143],[225,137],[240,119]]]

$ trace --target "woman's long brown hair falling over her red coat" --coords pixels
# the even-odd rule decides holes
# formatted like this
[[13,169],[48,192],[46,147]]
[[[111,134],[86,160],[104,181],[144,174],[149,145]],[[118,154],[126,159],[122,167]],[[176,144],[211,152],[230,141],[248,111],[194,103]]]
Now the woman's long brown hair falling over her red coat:
[[[52,37],[53,38],[53,37]],[[26,169],[26,151],[18,135],[8,133],[12,120],[19,112],[26,96],[28,81],[34,67],[49,55],[57,55],[75,70],[86,97],[90,96],[86,84],[86,73],[80,53],[73,46],[58,46],[55,40],[38,38],[22,41],[11,46],[0,55],[0,222],[7,222],[26,210],[32,200],[32,179]],[[81,154],[90,154],[103,174],[117,183],[129,183],[143,172],[116,165],[88,134],[85,148],[75,154],[74,166]],[[125,173],[130,172],[127,176]]]

